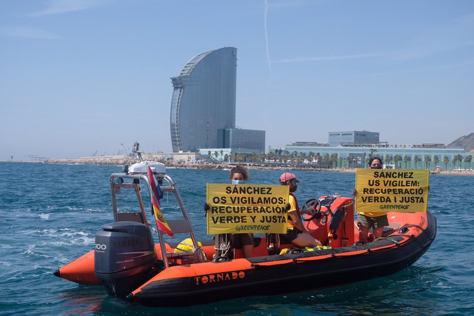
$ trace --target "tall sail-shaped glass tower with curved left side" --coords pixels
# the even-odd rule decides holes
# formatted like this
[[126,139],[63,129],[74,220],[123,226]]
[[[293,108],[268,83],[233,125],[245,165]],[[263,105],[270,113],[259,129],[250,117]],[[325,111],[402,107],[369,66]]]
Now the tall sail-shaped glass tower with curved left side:
[[236,79],[235,47],[196,55],[171,78],[173,152],[219,147],[218,129],[235,128]]

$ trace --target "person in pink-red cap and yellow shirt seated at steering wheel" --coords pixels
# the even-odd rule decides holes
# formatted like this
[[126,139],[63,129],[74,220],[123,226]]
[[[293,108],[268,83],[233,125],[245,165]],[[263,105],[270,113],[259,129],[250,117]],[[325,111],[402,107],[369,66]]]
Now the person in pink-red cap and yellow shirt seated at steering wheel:
[[285,172],[280,177],[280,183],[282,186],[290,186],[290,196],[288,202],[290,203],[290,209],[288,210],[288,220],[286,222],[286,233],[280,234],[280,238],[283,241],[292,242],[299,247],[317,247],[321,246],[321,243],[313,238],[309,232],[304,228],[303,222],[299,216],[300,207],[298,201],[293,195],[293,192],[298,188],[297,183],[301,182],[290,172]]

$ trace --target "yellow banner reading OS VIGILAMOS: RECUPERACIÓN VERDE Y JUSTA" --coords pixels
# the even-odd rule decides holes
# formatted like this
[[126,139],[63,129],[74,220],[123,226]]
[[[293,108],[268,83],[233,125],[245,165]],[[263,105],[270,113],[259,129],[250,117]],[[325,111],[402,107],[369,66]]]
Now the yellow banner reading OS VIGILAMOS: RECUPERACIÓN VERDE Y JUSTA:
[[285,233],[289,186],[207,185],[208,234]]

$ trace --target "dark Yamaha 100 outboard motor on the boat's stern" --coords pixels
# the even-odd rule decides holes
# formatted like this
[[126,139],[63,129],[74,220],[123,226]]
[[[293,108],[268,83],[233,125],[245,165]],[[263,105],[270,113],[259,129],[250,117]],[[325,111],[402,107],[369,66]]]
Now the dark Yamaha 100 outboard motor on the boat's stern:
[[95,276],[110,295],[124,297],[149,279],[155,264],[150,229],[136,222],[114,222],[100,228],[95,235]]

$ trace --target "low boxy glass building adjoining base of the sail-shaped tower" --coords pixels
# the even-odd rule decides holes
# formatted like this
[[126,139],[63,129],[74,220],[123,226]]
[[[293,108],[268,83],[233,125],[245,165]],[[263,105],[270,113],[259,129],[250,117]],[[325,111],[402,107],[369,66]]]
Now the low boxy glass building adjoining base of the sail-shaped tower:
[[221,148],[257,149],[265,152],[264,130],[219,129],[217,144]]

